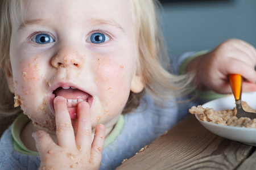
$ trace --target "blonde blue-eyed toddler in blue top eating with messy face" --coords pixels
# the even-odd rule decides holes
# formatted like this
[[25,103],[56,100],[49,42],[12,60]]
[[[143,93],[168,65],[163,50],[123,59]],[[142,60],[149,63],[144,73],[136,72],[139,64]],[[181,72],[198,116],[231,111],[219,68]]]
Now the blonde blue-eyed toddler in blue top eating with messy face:
[[256,90],[255,49],[242,40],[170,69],[156,4],[2,0],[0,113],[19,115],[1,137],[2,169],[114,169],[199,104],[180,102],[189,83],[206,100],[231,92],[229,74]]

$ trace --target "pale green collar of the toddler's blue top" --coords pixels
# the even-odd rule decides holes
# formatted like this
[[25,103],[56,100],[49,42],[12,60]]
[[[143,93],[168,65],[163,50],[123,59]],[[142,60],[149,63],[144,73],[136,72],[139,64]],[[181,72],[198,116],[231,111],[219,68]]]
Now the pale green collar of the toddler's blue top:
[[[20,139],[20,133],[24,126],[30,121],[30,119],[24,115],[20,114],[13,122],[13,126],[11,127],[11,134],[13,135],[13,146],[14,149],[22,154],[26,155],[39,155],[38,152],[34,152],[28,150],[26,146],[22,143]],[[115,124],[114,129],[112,132],[106,137],[104,147],[108,146],[112,143],[115,138],[121,133],[123,129],[123,125],[125,124],[125,117],[121,114],[118,118],[117,124]]]

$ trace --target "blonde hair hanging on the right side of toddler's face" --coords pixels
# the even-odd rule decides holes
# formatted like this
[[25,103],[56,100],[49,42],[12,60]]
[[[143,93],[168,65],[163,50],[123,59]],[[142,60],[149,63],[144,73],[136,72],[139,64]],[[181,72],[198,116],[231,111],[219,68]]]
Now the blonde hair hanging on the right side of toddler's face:
[[176,97],[187,95],[191,91],[187,87],[192,79],[192,76],[170,73],[170,61],[156,14],[160,6],[159,1],[133,0],[133,5],[135,32],[139,41],[138,74],[142,75],[145,88],[139,94],[131,92],[123,111],[125,113],[137,108],[146,92],[156,101],[175,101]]

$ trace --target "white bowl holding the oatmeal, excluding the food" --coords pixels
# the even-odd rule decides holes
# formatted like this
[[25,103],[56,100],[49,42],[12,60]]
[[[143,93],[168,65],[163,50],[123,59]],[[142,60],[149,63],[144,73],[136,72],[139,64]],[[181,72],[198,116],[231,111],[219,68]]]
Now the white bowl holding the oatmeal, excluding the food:
[[[256,92],[251,93],[243,93],[242,100],[246,101],[247,104],[256,109]],[[234,96],[229,95],[226,97],[222,97],[220,99],[209,101],[202,105],[204,108],[213,108],[216,111],[233,109],[236,107]],[[197,120],[199,118],[196,116]],[[204,122],[199,120],[199,122],[212,133],[219,135],[220,137],[224,137],[227,139],[231,139],[233,141],[238,141],[241,143],[245,143],[246,145],[256,146],[256,128],[241,128],[241,127],[233,127],[233,126],[224,126],[214,124],[212,122]]]

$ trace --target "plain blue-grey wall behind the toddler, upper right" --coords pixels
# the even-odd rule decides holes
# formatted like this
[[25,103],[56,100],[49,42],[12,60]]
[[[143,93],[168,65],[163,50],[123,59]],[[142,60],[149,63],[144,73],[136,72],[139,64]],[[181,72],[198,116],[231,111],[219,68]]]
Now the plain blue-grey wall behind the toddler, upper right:
[[256,1],[162,1],[160,22],[170,57],[212,49],[227,39],[256,47]]

